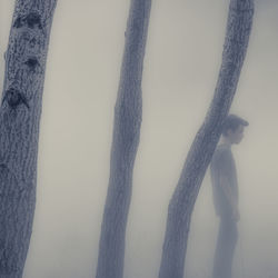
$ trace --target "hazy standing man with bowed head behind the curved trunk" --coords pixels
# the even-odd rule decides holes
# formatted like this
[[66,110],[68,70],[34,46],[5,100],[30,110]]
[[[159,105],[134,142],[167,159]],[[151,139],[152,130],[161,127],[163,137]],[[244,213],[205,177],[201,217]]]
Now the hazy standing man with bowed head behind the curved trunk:
[[239,221],[238,181],[231,146],[241,141],[246,126],[248,122],[236,115],[226,118],[221,141],[210,162],[215,209],[220,218],[212,278],[231,278]]

